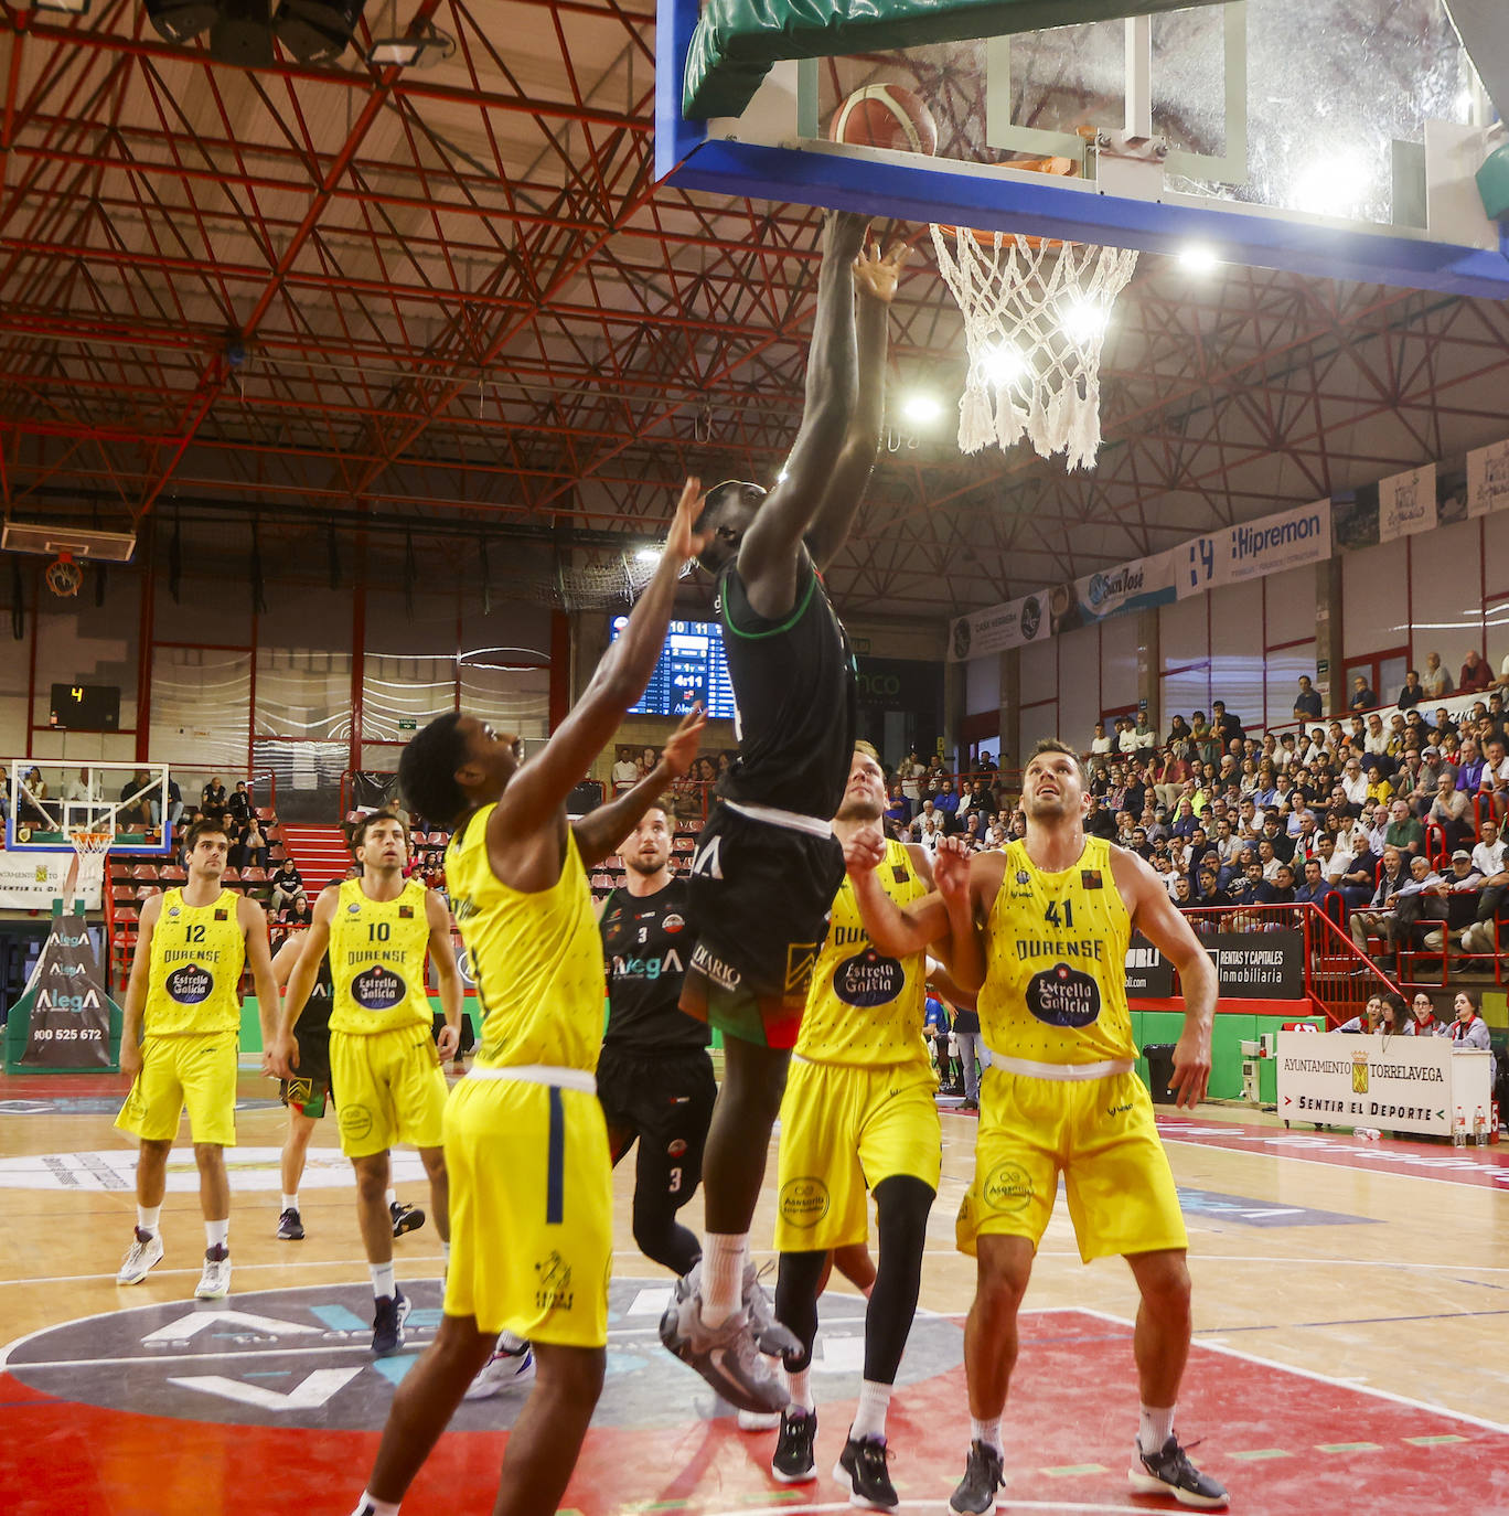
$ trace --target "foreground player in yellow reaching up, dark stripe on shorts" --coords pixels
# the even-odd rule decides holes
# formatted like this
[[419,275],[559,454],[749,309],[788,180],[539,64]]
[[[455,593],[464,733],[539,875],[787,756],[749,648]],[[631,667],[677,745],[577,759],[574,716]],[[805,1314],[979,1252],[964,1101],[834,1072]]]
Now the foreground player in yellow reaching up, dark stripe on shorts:
[[503,1452],[494,1516],[556,1510],[601,1393],[614,1195],[592,1076],[603,944],[585,864],[606,858],[686,773],[701,714],[611,805],[570,822],[565,800],[650,682],[677,576],[703,546],[698,494],[689,479],[623,637],[542,752],[524,763],[518,738],[470,716],[430,722],[403,752],[405,799],[453,831],[445,879],[483,1020],[476,1063],[445,1107],[445,1313],[392,1398],[356,1516],[394,1516],[500,1333],[533,1345],[536,1375]]

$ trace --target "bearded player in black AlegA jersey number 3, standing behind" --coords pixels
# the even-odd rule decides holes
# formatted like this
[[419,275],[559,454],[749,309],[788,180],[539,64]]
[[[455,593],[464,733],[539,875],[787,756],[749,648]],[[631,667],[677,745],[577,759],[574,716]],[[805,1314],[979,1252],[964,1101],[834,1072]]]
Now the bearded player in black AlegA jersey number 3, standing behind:
[[671,875],[671,825],[651,805],[618,849],[624,884],[601,904],[608,1031],[597,1098],[614,1166],[639,1142],[633,1240],[676,1275],[701,1257],[676,1213],[701,1182],[701,1151],[718,1087],[708,1025],[677,1007],[691,957],[686,882]]

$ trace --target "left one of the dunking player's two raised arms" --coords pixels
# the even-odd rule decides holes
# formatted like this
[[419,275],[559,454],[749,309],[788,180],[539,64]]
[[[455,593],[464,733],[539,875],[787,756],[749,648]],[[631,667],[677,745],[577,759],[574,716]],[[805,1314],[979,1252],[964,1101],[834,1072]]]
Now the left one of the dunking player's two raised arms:
[[782,617],[795,605],[801,540],[827,497],[854,421],[859,362],[853,265],[864,247],[867,224],[865,217],[850,211],[827,214],[801,428],[782,478],[739,543],[739,578],[759,615]]

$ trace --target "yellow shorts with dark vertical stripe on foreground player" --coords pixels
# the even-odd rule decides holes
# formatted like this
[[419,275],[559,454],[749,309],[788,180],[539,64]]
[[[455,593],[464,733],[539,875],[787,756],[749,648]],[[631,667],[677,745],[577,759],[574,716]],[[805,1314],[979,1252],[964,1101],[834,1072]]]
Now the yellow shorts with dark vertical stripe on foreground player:
[[445,1104],[445,1314],[568,1348],[608,1343],[614,1181],[597,1096],[468,1076]]

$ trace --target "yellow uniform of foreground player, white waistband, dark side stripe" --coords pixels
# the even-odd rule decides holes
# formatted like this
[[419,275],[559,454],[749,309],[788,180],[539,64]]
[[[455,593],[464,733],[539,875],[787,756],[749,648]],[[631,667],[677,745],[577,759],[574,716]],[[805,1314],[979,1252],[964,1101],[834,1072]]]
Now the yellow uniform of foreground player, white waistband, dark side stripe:
[[570,828],[548,890],[503,884],[488,858],[491,814],[473,814],[445,850],[482,1008],[476,1064],[445,1107],[445,1314],[601,1348],[614,1192],[594,1079],[605,978],[592,893]]

